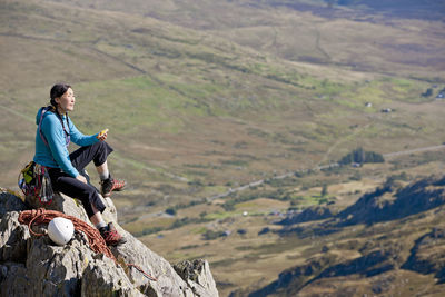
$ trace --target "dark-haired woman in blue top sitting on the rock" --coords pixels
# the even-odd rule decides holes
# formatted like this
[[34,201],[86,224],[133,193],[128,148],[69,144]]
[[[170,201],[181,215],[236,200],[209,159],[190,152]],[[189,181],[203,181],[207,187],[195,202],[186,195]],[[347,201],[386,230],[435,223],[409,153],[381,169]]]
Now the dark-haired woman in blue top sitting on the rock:
[[[33,161],[48,168],[52,188],[70,197],[79,198],[91,222],[99,229],[107,245],[116,246],[125,242],[112,222],[106,224],[101,216],[103,205],[97,189],[89,185],[85,167],[93,161],[100,177],[101,194],[109,197],[111,191],[122,190],[125,181],[111,178],[108,171],[107,157],[112,148],[105,142],[107,131],[85,136],[68,117],[68,111],[75,110],[75,93],[71,86],[55,85],[50,91],[50,106],[41,108],[37,113],[36,155]],[[72,140],[80,148],[68,152]]]

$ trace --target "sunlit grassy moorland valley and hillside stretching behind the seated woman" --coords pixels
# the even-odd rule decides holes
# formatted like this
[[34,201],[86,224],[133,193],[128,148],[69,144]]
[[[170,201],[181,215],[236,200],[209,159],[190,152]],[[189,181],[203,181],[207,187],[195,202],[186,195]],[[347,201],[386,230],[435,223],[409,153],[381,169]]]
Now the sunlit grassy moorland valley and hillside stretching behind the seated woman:
[[[245,4],[1,2],[0,186],[17,188],[37,109],[68,81],[78,128],[110,129],[113,172],[130,185],[115,196],[123,227],[171,261],[208,258],[225,296],[317,253],[309,239],[258,236],[288,208],[339,211],[387,176],[441,172],[441,151],[315,169],[357,147],[445,140],[442,22]],[[297,175],[275,178],[286,172]]]

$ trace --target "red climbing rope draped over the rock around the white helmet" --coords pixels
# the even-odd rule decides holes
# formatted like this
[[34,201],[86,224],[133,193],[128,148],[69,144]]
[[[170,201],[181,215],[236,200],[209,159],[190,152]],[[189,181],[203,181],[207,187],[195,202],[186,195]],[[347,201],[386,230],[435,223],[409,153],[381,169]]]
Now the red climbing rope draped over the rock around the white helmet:
[[[63,212],[56,210],[47,210],[44,208],[23,210],[19,215],[19,222],[28,225],[29,231],[34,236],[43,236],[44,234],[37,234],[32,230],[32,225],[49,224],[53,218],[62,217],[69,219],[75,225],[77,231],[82,231],[88,237],[88,244],[90,248],[96,253],[105,254],[107,257],[111,258],[116,264],[118,264],[115,255],[108,248],[106,241],[100,235],[99,230],[88,225],[86,221],[78,219],[72,216],[65,215]],[[157,281],[157,279],[149,274],[145,273],[139,266],[135,264],[126,264],[128,267],[135,267],[140,273],[142,273],[148,279]]]

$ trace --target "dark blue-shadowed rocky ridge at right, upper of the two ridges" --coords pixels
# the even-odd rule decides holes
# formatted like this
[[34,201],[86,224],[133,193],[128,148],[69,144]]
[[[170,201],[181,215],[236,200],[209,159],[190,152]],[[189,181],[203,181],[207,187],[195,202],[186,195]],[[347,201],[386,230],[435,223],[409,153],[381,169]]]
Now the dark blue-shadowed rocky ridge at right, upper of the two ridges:
[[[373,225],[405,218],[445,205],[444,186],[444,177],[423,178],[405,187],[388,179],[382,187],[363,195],[354,205],[337,215],[329,216],[330,211],[324,210],[324,207],[309,207],[295,217],[284,219],[280,222],[284,228],[277,232],[280,236],[297,235],[300,238],[318,237],[337,232],[346,226]],[[298,225],[322,218],[325,221],[315,221],[309,227]]]

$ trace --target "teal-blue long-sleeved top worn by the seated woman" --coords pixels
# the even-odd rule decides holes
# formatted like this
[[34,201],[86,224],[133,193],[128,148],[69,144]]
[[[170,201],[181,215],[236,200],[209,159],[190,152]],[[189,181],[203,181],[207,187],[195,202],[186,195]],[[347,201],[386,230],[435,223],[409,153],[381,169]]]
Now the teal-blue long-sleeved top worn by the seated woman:
[[[36,116],[37,126],[39,126],[41,112],[42,109],[40,109]],[[80,147],[86,147],[99,141],[97,139],[98,133],[92,136],[85,136],[76,128],[68,116],[61,116],[61,118],[63,120],[65,127],[69,127],[69,130],[67,129],[67,131],[69,131],[70,139],[76,145]],[[51,168],[60,168],[63,170],[63,172],[70,175],[71,177],[77,177],[79,175],[79,171],[71,164],[63,127],[59,117],[55,112],[47,111],[43,115],[41,132],[47,139],[48,145],[44,143],[44,141],[40,137],[39,127],[37,127],[36,155],[33,158],[34,162]]]

